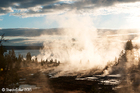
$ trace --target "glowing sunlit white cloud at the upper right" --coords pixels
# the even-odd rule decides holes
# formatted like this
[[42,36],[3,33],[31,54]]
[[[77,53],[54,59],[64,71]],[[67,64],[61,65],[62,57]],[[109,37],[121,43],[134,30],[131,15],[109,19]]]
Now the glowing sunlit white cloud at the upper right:
[[80,14],[83,15],[109,15],[109,14],[130,14],[130,15],[135,15],[138,16],[140,15],[140,2],[135,2],[135,3],[123,3],[123,4],[115,4],[114,6],[109,6],[109,7],[100,7],[96,9],[89,9],[85,10],[82,9],[80,10]]

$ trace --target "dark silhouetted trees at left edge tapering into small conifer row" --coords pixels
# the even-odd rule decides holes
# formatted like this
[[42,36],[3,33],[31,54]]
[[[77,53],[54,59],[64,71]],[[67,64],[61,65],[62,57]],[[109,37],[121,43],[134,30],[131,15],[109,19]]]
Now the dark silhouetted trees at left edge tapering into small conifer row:
[[3,46],[3,43],[6,41],[7,39],[4,38],[3,34],[0,39],[0,89],[17,88],[19,86],[18,82],[20,79],[18,71],[21,68],[30,67],[31,63],[36,64],[36,66],[44,66],[46,63],[47,66],[50,66],[50,64],[53,63],[53,66],[58,66],[58,63],[53,62],[53,60],[42,60],[41,62],[38,62],[37,57],[32,60],[30,52],[27,53],[26,59],[24,59],[21,54],[16,56],[14,49],[7,52]]

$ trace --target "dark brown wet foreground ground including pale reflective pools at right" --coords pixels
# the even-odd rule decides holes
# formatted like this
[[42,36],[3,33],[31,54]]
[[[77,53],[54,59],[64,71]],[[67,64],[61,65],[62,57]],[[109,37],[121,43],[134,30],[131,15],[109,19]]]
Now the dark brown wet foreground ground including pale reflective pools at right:
[[[115,93],[120,83],[119,75],[115,76],[60,76],[54,78],[49,72],[53,69],[22,69],[20,88],[32,88],[30,93]],[[53,77],[53,78],[51,78]],[[22,92],[19,92],[22,93]]]

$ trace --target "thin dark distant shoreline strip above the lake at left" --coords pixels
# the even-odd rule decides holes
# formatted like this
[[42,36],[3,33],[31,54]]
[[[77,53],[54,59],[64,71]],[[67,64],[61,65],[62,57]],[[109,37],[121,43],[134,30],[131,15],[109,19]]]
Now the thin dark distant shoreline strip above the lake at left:
[[4,46],[6,50],[39,50],[42,49],[43,46]]

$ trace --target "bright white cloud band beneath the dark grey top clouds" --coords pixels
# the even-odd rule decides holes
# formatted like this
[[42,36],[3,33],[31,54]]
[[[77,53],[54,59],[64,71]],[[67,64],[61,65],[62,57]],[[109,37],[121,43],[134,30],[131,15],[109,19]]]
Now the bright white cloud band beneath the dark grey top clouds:
[[[121,3],[121,4],[115,4],[113,6],[107,6],[107,7],[99,7],[99,8],[89,8],[89,9],[60,9],[60,10],[55,10],[55,9],[43,9],[42,6],[35,6],[35,7],[30,7],[30,8],[19,8],[15,9],[17,12],[16,13],[11,13],[11,15],[14,16],[22,16],[23,18],[26,17],[39,17],[39,16],[44,16],[44,15],[54,15],[54,14],[63,14],[66,12],[71,12],[75,11],[73,14],[78,14],[78,15],[93,15],[93,16],[98,16],[98,15],[110,15],[110,14],[129,14],[133,16],[139,16],[140,15],[140,2],[135,2],[135,3]],[[131,17],[129,16],[129,17]]]

